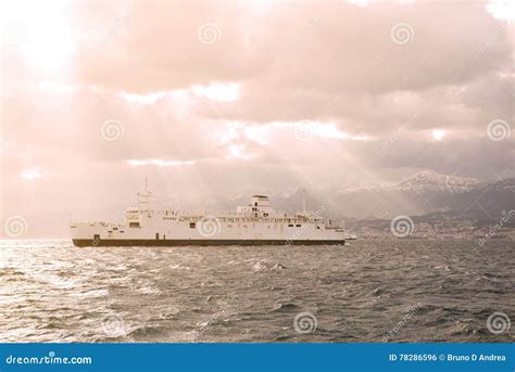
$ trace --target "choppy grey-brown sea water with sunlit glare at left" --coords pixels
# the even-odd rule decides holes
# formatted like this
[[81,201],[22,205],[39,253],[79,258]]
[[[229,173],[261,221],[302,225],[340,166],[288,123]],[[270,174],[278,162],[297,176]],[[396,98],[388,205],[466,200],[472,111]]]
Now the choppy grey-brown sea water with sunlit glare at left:
[[513,342],[487,328],[515,318],[513,242],[474,244],[3,241],[0,342]]

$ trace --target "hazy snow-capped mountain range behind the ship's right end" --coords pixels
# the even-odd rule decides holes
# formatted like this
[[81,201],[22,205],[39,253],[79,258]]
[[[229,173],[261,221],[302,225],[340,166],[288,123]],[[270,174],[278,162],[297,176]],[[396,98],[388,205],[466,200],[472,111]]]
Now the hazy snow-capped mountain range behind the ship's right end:
[[[241,202],[246,203],[247,198]],[[302,205],[302,190],[273,194],[271,200],[277,209],[296,211]],[[428,170],[400,182],[306,190],[306,204],[312,210],[324,206],[324,215],[332,218],[390,219],[398,215],[443,213],[495,220],[503,210],[515,209],[515,178],[481,182]]]

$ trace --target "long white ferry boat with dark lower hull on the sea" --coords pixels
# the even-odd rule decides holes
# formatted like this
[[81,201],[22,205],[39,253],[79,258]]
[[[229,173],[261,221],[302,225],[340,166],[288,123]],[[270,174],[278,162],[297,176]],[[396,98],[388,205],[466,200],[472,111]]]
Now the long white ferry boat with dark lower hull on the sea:
[[76,246],[185,246],[185,245],[344,245],[343,228],[315,213],[276,213],[266,195],[253,195],[236,211],[206,214],[158,209],[150,206],[146,185],[138,205],[128,207],[120,221],[72,222]]

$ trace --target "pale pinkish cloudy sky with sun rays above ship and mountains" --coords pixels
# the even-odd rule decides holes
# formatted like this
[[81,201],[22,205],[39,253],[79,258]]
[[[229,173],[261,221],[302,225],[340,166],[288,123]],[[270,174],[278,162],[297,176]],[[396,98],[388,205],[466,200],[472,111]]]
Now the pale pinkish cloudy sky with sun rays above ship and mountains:
[[514,3],[3,1],[1,219],[514,177]]

